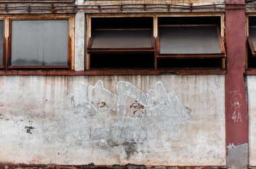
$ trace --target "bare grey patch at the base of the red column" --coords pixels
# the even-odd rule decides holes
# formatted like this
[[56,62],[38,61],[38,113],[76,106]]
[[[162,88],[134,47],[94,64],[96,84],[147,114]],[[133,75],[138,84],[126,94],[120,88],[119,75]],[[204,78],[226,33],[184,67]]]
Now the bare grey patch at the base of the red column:
[[248,164],[248,144],[227,146],[228,156],[226,157],[227,166],[231,169],[247,168]]

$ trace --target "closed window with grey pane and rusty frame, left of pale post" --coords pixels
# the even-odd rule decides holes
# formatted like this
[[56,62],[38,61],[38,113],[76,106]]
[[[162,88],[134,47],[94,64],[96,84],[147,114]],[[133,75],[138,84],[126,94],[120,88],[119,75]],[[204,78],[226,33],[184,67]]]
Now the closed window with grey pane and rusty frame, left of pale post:
[[[2,68],[71,69],[71,20],[71,16],[6,17],[8,50],[0,58]],[[1,48],[0,52],[4,53]]]

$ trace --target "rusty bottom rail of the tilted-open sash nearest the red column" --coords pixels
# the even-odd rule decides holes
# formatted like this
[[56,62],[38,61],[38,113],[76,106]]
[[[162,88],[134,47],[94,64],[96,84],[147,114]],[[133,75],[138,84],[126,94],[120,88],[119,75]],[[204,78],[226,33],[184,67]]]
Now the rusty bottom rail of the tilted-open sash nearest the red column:
[[158,54],[157,58],[225,58],[226,54]]

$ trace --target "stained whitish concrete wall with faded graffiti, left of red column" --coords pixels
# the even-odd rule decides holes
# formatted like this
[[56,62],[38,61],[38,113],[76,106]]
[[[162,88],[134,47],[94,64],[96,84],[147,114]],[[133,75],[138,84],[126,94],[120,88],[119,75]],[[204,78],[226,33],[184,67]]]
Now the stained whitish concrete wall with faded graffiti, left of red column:
[[224,76],[0,76],[0,96],[0,162],[226,165]]

